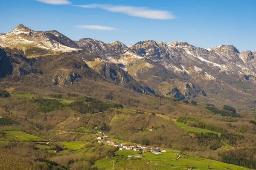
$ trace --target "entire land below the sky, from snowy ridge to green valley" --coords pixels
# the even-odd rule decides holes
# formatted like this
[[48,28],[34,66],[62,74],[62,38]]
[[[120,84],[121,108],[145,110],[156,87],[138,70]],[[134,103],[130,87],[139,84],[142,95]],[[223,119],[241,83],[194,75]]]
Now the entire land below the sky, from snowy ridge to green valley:
[[255,55],[21,24],[0,34],[0,169],[256,169]]

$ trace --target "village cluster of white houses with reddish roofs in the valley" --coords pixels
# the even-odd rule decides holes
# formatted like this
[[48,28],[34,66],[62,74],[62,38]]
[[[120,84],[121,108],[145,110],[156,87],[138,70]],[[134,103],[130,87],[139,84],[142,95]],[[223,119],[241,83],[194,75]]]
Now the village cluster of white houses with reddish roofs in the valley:
[[134,151],[142,150],[143,153],[152,152],[157,155],[161,155],[162,152],[166,152],[165,149],[160,149],[159,147],[148,147],[143,144],[137,145],[137,144],[127,144],[127,143],[121,143],[121,142],[116,143],[116,141],[111,140],[111,139],[103,140],[103,138],[101,136],[99,136],[97,139],[98,139],[98,143],[103,143],[106,145],[112,145],[114,147],[119,147],[119,150],[134,150]]

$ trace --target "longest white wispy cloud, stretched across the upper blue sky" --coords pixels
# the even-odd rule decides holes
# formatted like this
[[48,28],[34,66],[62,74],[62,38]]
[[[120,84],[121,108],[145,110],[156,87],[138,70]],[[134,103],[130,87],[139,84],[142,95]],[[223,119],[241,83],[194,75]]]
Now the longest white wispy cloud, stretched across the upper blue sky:
[[170,11],[153,10],[148,7],[137,6],[115,6],[111,4],[89,4],[89,5],[76,5],[83,8],[102,8],[110,12],[119,12],[128,14],[134,17],[143,17],[158,20],[171,20],[175,16]]

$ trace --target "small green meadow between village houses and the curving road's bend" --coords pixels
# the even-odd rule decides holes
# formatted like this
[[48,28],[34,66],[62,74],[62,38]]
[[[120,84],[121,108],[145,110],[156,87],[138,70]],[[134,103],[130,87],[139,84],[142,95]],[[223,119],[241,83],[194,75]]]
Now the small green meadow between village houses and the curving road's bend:
[[162,155],[157,155],[152,152],[146,152],[142,154],[143,158],[148,161],[162,161],[162,160],[170,160],[170,159],[176,159],[178,156],[175,153],[167,152],[162,153]]

